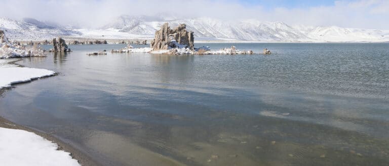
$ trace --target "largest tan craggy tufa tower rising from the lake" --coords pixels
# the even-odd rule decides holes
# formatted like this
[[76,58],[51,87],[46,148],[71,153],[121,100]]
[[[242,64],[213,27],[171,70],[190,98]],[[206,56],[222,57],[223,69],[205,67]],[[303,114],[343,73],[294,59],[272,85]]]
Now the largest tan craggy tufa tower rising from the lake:
[[150,46],[152,50],[169,48],[189,48],[193,50],[194,40],[193,32],[188,32],[185,24],[170,29],[169,24],[165,23],[160,30],[155,32],[155,38],[151,40]]

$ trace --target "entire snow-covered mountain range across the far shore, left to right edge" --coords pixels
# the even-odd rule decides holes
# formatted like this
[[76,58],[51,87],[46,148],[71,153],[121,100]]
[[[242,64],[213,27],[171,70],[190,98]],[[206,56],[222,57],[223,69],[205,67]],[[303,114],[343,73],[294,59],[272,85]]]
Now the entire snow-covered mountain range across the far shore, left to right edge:
[[69,29],[34,19],[15,21],[0,18],[0,29],[11,39],[49,39],[57,36],[109,39],[150,39],[168,22],[186,24],[199,40],[262,42],[387,42],[389,30],[341,28],[336,26],[290,26],[258,20],[223,21],[212,18],[166,19],[152,16],[120,16],[98,29]]

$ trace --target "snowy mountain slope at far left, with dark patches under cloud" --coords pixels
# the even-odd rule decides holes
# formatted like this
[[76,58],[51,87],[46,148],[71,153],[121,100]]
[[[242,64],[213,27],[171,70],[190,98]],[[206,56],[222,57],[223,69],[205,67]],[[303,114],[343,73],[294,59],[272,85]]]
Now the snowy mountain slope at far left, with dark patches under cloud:
[[0,18],[0,29],[4,30],[7,37],[12,40],[42,40],[82,34],[76,30],[55,24],[49,25],[31,18],[25,18],[21,21]]

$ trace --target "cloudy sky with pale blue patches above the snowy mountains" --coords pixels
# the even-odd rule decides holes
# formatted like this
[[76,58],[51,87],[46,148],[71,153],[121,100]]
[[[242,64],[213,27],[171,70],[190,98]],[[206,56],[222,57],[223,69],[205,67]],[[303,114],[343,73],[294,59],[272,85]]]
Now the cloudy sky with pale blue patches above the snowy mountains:
[[0,17],[98,28],[120,15],[256,19],[389,30],[389,0],[0,0]]

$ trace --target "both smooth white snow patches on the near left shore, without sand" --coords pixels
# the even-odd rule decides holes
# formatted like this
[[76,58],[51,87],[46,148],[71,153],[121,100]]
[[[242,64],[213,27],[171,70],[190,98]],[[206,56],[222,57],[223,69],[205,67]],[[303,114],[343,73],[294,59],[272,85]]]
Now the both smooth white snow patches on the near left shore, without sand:
[[[0,60],[0,89],[14,83],[52,76],[55,73],[45,69],[21,68]],[[0,165],[4,166],[53,166],[80,165],[70,153],[57,150],[58,145],[34,133],[0,127]]]

